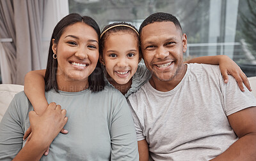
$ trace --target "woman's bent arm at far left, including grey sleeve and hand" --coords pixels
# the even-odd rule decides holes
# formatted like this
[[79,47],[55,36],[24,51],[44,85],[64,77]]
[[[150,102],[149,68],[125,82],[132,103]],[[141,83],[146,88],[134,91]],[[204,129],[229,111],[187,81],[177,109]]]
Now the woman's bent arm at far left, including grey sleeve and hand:
[[[31,111],[29,104],[27,97],[20,92],[4,113],[0,123],[0,160],[39,160],[67,123],[66,110],[61,110],[55,103],[51,103],[42,115]],[[33,134],[30,143],[22,148],[22,137],[28,121]]]

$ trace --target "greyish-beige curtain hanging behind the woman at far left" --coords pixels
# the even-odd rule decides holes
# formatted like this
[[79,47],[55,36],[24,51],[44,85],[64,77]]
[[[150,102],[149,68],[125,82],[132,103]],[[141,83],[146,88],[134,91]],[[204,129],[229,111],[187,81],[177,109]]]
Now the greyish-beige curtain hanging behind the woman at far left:
[[47,0],[0,0],[0,39],[12,38],[12,42],[2,43],[1,62],[7,64],[1,65],[3,83],[23,85],[28,71],[41,68],[45,3]]

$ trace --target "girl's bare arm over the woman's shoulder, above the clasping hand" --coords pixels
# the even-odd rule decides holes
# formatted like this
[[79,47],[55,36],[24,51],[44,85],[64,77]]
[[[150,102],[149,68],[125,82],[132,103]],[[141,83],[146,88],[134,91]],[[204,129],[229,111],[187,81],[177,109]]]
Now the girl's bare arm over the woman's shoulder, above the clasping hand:
[[29,71],[25,76],[24,92],[36,114],[40,115],[48,106],[45,98],[45,70]]

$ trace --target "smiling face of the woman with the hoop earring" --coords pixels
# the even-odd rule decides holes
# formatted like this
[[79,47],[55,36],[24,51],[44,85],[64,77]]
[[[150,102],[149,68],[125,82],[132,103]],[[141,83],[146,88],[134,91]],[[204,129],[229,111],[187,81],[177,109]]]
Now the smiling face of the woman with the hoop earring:
[[95,30],[83,22],[68,26],[58,44],[52,45],[57,55],[57,80],[61,83],[86,81],[99,59],[99,40]]

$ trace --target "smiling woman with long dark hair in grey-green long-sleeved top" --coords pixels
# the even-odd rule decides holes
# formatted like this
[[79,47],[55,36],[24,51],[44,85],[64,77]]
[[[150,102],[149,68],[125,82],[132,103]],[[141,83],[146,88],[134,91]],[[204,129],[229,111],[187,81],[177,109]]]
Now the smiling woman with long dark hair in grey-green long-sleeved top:
[[[29,127],[28,113],[33,106],[20,92],[1,122],[1,160],[10,160],[17,154],[17,160],[39,160],[50,144],[52,153],[41,160],[138,160],[129,106],[120,92],[104,88],[98,60],[99,37],[97,23],[76,13],[56,25],[45,72],[45,96],[48,102],[67,109],[68,122],[65,111],[55,104],[50,104],[40,116],[30,113],[33,134],[22,148],[22,137]],[[70,132],[58,135],[63,125]],[[36,146],[29,156],[35,144],[42,148]]]

